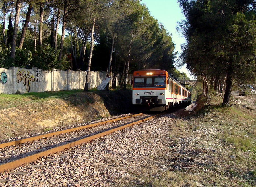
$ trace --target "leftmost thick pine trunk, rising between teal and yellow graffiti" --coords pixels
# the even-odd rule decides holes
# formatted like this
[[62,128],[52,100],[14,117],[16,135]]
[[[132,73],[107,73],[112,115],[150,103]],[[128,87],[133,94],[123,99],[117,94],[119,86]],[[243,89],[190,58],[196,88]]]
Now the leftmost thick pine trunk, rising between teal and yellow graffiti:
[[17,45],[18,24],[19,24],[19,19],[20,19],[20,7],[21,7],[21,1],[17,0],[16,13],[15,13],[15,19],[14,19],[14,25],[13,25],[13,40],[12,40],[12,46],[11,46],[11,59],[15,59],[15,49],[16,49],[16,45]]

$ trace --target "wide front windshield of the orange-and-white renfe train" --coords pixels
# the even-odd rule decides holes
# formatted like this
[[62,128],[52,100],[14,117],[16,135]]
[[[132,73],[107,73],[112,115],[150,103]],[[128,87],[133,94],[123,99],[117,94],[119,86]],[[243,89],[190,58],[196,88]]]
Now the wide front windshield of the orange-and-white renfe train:
[[134,88],[165,88],[165,76],[134,77]]

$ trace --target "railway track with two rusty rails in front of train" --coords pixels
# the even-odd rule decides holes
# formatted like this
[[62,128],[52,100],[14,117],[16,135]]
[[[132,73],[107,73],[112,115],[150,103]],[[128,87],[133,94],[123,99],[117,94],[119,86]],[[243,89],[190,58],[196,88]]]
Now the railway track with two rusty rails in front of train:
[[10,171],[51,154],[58,154],[68,148],[141,123],[160,114],[133,114],[0,143],[0,172]]

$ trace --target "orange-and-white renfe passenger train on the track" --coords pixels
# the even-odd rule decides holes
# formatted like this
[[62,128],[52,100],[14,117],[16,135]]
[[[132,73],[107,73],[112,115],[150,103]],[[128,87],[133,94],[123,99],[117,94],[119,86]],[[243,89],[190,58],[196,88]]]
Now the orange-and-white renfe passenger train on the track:
[[133,105],[146,111],[164,111],[191,102],[190,91],[165,70],[134,71],[132,83]]

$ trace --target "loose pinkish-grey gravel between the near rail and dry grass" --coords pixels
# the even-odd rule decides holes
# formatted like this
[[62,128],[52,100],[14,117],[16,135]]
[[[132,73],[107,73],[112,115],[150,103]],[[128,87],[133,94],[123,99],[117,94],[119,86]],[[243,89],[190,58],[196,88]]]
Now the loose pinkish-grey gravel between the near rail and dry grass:
[[43,158],[31,163],[32,167],[2,173],[0,181],[6,183],[0,186],[113,186],[114,179],[129,176],[127,171],[131,168],[144,167],[148,162],[145,158],[163,147],[163,124],[171,123],[172,116],[147,120]]

